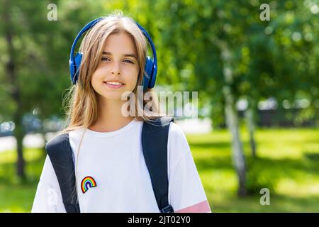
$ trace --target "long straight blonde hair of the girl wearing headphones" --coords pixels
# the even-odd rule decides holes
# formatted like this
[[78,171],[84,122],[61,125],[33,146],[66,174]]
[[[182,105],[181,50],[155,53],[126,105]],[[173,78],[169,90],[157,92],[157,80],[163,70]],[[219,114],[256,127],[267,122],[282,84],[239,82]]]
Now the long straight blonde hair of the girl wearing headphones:
[[[58,135],[73,131],[77,128],[88,128],[95,123],[98,116],[98,103],[96,92],[91,86],[91,77],[99,65],[101,55],[104,48],[104,43],[108,35],[115,33],[127,33],[133,39],[138,53],[138,65],[140,72],[138,81],[133,93],[135,94],[135,119],[137,121],[152,122],[155,118],[165,116],[159,112],[159,101],[157,94],[153,89],[143,91],[151,92],[152,110],[151,112],[144,111],[147,102],[138,101],[138,86],[142,86],[142,78],[145,68],[145,60],[147,55],[147,39],[140,28],[136,25],[132,18],[123,16],[121,11],[116,11],[108,16],[103,17],[101,21],[96,23],[84,36],[79,48],[79,52],[83,53],[82,62],[79,69],[79,79],[77,84],[69,89],[63,103],[67,102],[67,118],[65,127],[57,133]],[[148,77],[148,75],[147,75]]]

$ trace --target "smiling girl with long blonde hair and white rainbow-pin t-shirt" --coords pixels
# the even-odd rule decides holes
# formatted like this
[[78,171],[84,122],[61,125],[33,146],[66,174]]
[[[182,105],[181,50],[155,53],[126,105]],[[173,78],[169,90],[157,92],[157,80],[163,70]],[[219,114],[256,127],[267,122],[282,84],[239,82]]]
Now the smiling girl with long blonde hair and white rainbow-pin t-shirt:
[[[158,104],[147,112],[145,100],[142,108],[138,101],[124,108],[127,100],[121,98],[130,92],[138,99],[147,42],[142,28],[120,12],[96,22],[80,45],[81,70],[70,93],[67,127],[60,134],[69,133],[81,212],[159,212],[141,145],[143,122],[152,122]],[[189,144],[174,122],[169,123],[167,171],[174,212],[211,212]],[[32,212],[65,211],[47,156]]]

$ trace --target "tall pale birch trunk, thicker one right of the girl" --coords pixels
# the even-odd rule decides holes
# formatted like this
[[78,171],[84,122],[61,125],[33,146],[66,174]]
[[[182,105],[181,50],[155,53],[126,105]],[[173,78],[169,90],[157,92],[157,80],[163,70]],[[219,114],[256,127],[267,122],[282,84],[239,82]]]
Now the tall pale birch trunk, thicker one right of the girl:
[[246,189],[246,166],[245,156],[242,148],[242,141],[240,139],[240,131],[238,127],[237,109],[235,108],[235,102],[233,93],[231,90],[231,84],[233,83],[233,71],[231,67],[231,55],[227,43],[218,40],[216,42],[220,48],[221,57],[223,59],[223,74],[225,78],[225,85],[223,86],[223,94],[225,97],[225,115],[228,130],[232,135],[232,150],[233,150],[233,163],[238,176],[238,191],[239,196],[245,196],[247,194]]

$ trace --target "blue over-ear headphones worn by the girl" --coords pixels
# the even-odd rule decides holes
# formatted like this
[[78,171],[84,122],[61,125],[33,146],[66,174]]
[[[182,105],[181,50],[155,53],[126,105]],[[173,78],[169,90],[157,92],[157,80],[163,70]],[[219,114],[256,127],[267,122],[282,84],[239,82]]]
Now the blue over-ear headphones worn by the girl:
[[[77,37],[75,38],[72,44],[71,52],[69,55],[69,72],[71,74],[72,84],[77,84],[77,79],[79,77],[79,67],[81,65],[81,60],[83,55],[82,52],[77,52],[77,54],[74,56],[74,49],[75,49],[75,46],[77,45],[77,41],[79,40],[79,38],[81,37],[83,33],[91,29],[96,23],[101,21],[101,19],[103,19],[103,17],[97,18],[94,21],[91,21],[90,23],[86,24],[86,26],[84,26],[84,28],[81,29],[79,34],[77,34]],[[140,28],[142,33],[145,35],[148,42],[150,43],[153,56],[154,56],[154,60],[152,60],[150,56],[146,57],[145,72],[143,75],[143,89],[146,90],[147,88],[153,88],[155,85],[155,80],[157,75],[156,50],[155,50],[154,43],[152,42],[152,39],[150,38],[150,35],[148,35],[147,31],[145,31],[145,29],[142,28],[142,26],[140,26],[138,23],[136,24],[138,25],[138,28]]]

